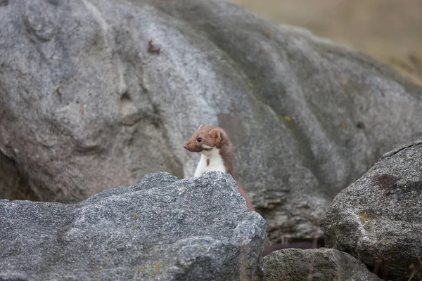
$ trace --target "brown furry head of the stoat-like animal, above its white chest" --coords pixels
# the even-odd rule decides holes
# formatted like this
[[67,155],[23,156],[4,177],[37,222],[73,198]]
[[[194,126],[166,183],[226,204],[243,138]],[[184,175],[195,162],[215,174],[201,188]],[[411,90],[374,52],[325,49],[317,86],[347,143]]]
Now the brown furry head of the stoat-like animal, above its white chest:
[[220,127],[200,125],[183,147],[190,152],[204,152],[220,148],[221,144],[222,129]]

